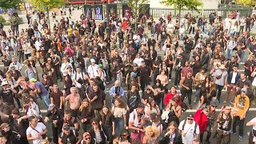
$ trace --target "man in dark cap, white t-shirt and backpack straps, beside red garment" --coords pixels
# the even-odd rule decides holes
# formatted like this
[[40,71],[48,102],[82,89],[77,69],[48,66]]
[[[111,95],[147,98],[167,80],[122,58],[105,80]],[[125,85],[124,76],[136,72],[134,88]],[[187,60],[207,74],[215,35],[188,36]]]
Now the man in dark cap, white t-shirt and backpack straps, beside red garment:
[[193,114],[190,114],[185,120],[180,122],[178,130],[182,134],[183,143],[192,143],[194,139],[198,139],[200,134],[198,123],[194,121]]

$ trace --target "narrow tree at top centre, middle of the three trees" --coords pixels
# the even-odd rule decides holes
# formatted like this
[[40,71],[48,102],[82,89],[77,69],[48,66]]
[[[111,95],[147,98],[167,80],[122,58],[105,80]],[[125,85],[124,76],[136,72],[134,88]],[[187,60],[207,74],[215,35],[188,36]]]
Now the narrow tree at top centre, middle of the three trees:
[[[146,4],[149,3],[149,0],[128,0],[127,4],[130,7],[130,10],[138,22],[139,13],[144,13],[146,11]],[[135,24],[136,28],[136,24]]]

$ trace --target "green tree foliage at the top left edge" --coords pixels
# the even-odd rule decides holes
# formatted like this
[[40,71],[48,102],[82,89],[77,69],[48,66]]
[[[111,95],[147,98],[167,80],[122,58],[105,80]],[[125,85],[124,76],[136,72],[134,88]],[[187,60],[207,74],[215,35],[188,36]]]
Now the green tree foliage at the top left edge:
[[46,11],[45,7],[48,7],[49,10],[58,8],[65,5],[64,0],[29,0],[29,2],[37,6],[36,9]]

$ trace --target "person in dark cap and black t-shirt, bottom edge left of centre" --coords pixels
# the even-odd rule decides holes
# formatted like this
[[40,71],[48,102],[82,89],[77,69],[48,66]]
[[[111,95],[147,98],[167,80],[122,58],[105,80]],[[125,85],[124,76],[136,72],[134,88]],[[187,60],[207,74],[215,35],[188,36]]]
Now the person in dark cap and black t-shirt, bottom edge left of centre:
[[82,137],[75,130],[71,130],[69,125],[63,127],[63,131],[58,136],[58,143],[78,144],[82,141]]

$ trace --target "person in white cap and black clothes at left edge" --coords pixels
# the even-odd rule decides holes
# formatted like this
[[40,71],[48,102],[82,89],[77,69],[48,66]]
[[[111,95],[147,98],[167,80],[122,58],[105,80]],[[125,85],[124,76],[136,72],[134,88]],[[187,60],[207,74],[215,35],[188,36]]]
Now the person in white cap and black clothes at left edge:
[[6,81],[3,81],[1,86],[2,89],[0,90],[0,95],[2,98],[2,102],[5,102],[10,107],[10,110],[14,110],[14,93],[17,93],[17,91],[10,88],[8,82]]

